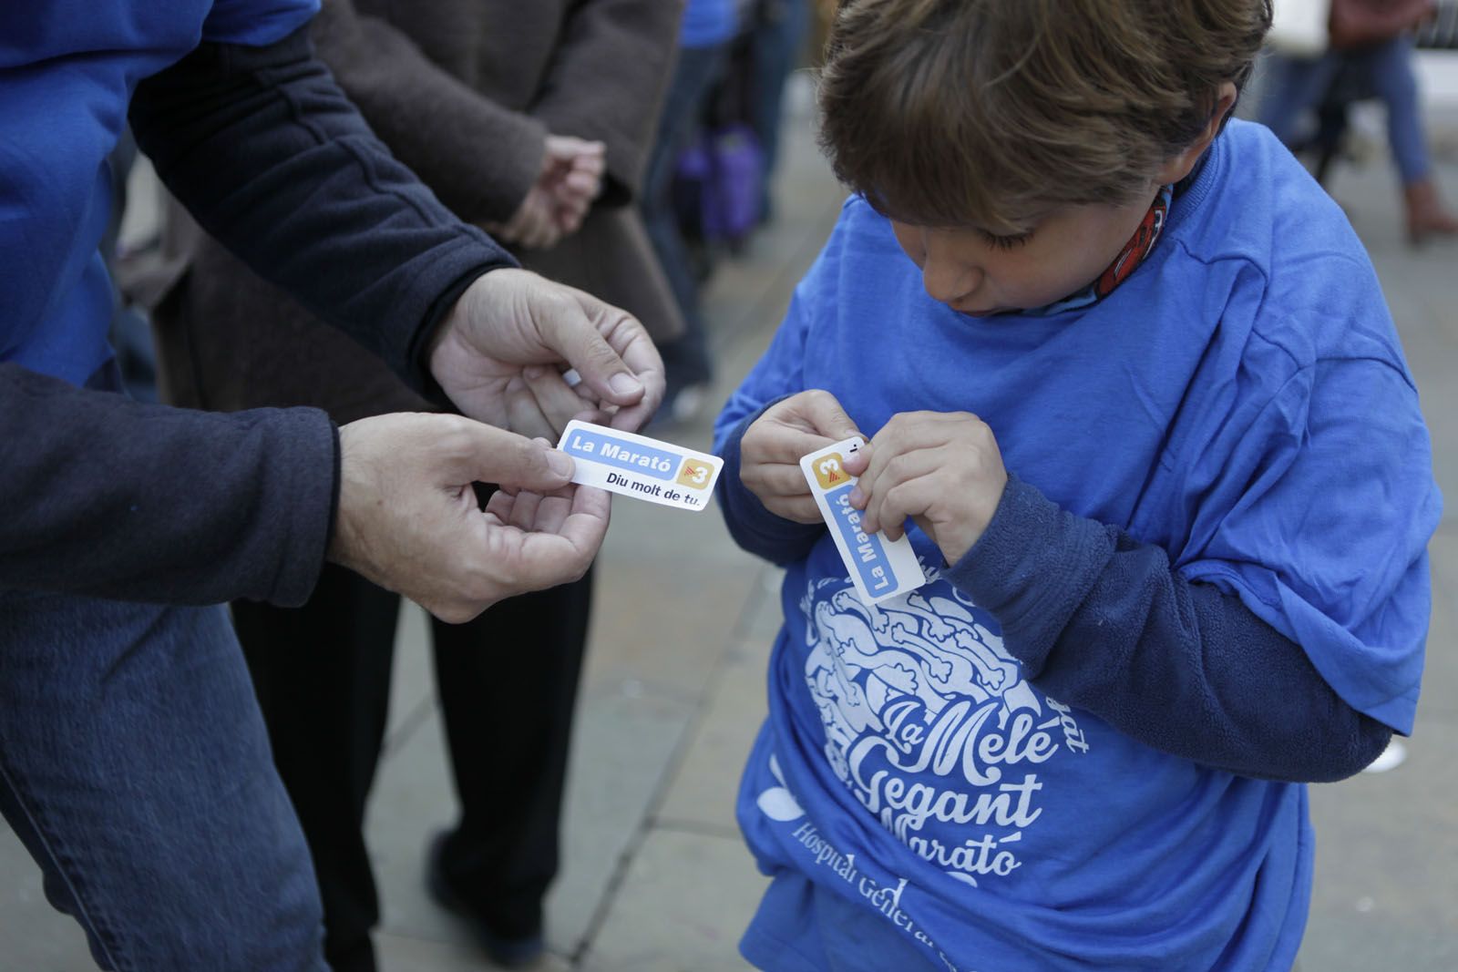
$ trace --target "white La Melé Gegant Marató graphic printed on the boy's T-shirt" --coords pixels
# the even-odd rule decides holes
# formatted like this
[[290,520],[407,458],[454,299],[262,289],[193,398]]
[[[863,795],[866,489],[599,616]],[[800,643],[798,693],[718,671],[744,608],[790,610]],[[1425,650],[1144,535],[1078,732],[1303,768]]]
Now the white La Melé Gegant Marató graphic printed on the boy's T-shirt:
[[1042,815],[1038,768],[1088,752],[1070,710],[1024,681],[946,581],[870,606],[849,580],[824,579],[800,608],[805,678],[835,775],[958,880],[1021,867],[1016,845]]

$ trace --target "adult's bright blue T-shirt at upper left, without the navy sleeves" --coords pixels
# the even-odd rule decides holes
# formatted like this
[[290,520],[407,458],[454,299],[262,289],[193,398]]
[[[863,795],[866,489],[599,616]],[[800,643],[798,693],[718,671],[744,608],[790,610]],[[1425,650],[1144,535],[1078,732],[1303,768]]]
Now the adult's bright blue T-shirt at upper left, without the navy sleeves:
[[106,156],[137,82],[200,41],[264,45],[318,0],[0,4],[0,361],[82,385],[111,358]]

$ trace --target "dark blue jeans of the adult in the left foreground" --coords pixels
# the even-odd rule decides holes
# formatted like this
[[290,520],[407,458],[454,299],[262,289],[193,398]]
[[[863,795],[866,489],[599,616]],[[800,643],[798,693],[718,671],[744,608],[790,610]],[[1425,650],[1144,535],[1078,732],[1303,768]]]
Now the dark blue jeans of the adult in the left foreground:
[[0,812],[104,969],[328,968],[223,608],[0,590]]

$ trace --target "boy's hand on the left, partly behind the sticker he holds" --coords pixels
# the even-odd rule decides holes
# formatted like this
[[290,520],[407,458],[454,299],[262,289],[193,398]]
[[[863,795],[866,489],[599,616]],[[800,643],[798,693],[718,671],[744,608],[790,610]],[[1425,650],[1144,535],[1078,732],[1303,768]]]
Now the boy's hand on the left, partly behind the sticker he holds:
[[739,479],[770,513],[796,523],[819,523],[819,507],[800,472],[800,456],[859,434],[830,392],[792,395],[745,430]]

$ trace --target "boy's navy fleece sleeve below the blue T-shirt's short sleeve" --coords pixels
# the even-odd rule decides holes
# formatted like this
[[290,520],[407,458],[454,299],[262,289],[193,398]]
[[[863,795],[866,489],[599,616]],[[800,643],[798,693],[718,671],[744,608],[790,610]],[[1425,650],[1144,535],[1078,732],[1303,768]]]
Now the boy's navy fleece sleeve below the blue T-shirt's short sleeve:
[[1016,477],[946,577],[997,618],[1031,682],[1155,749],[1319,783],[1357,772],[1392,736],[1239,597]]

